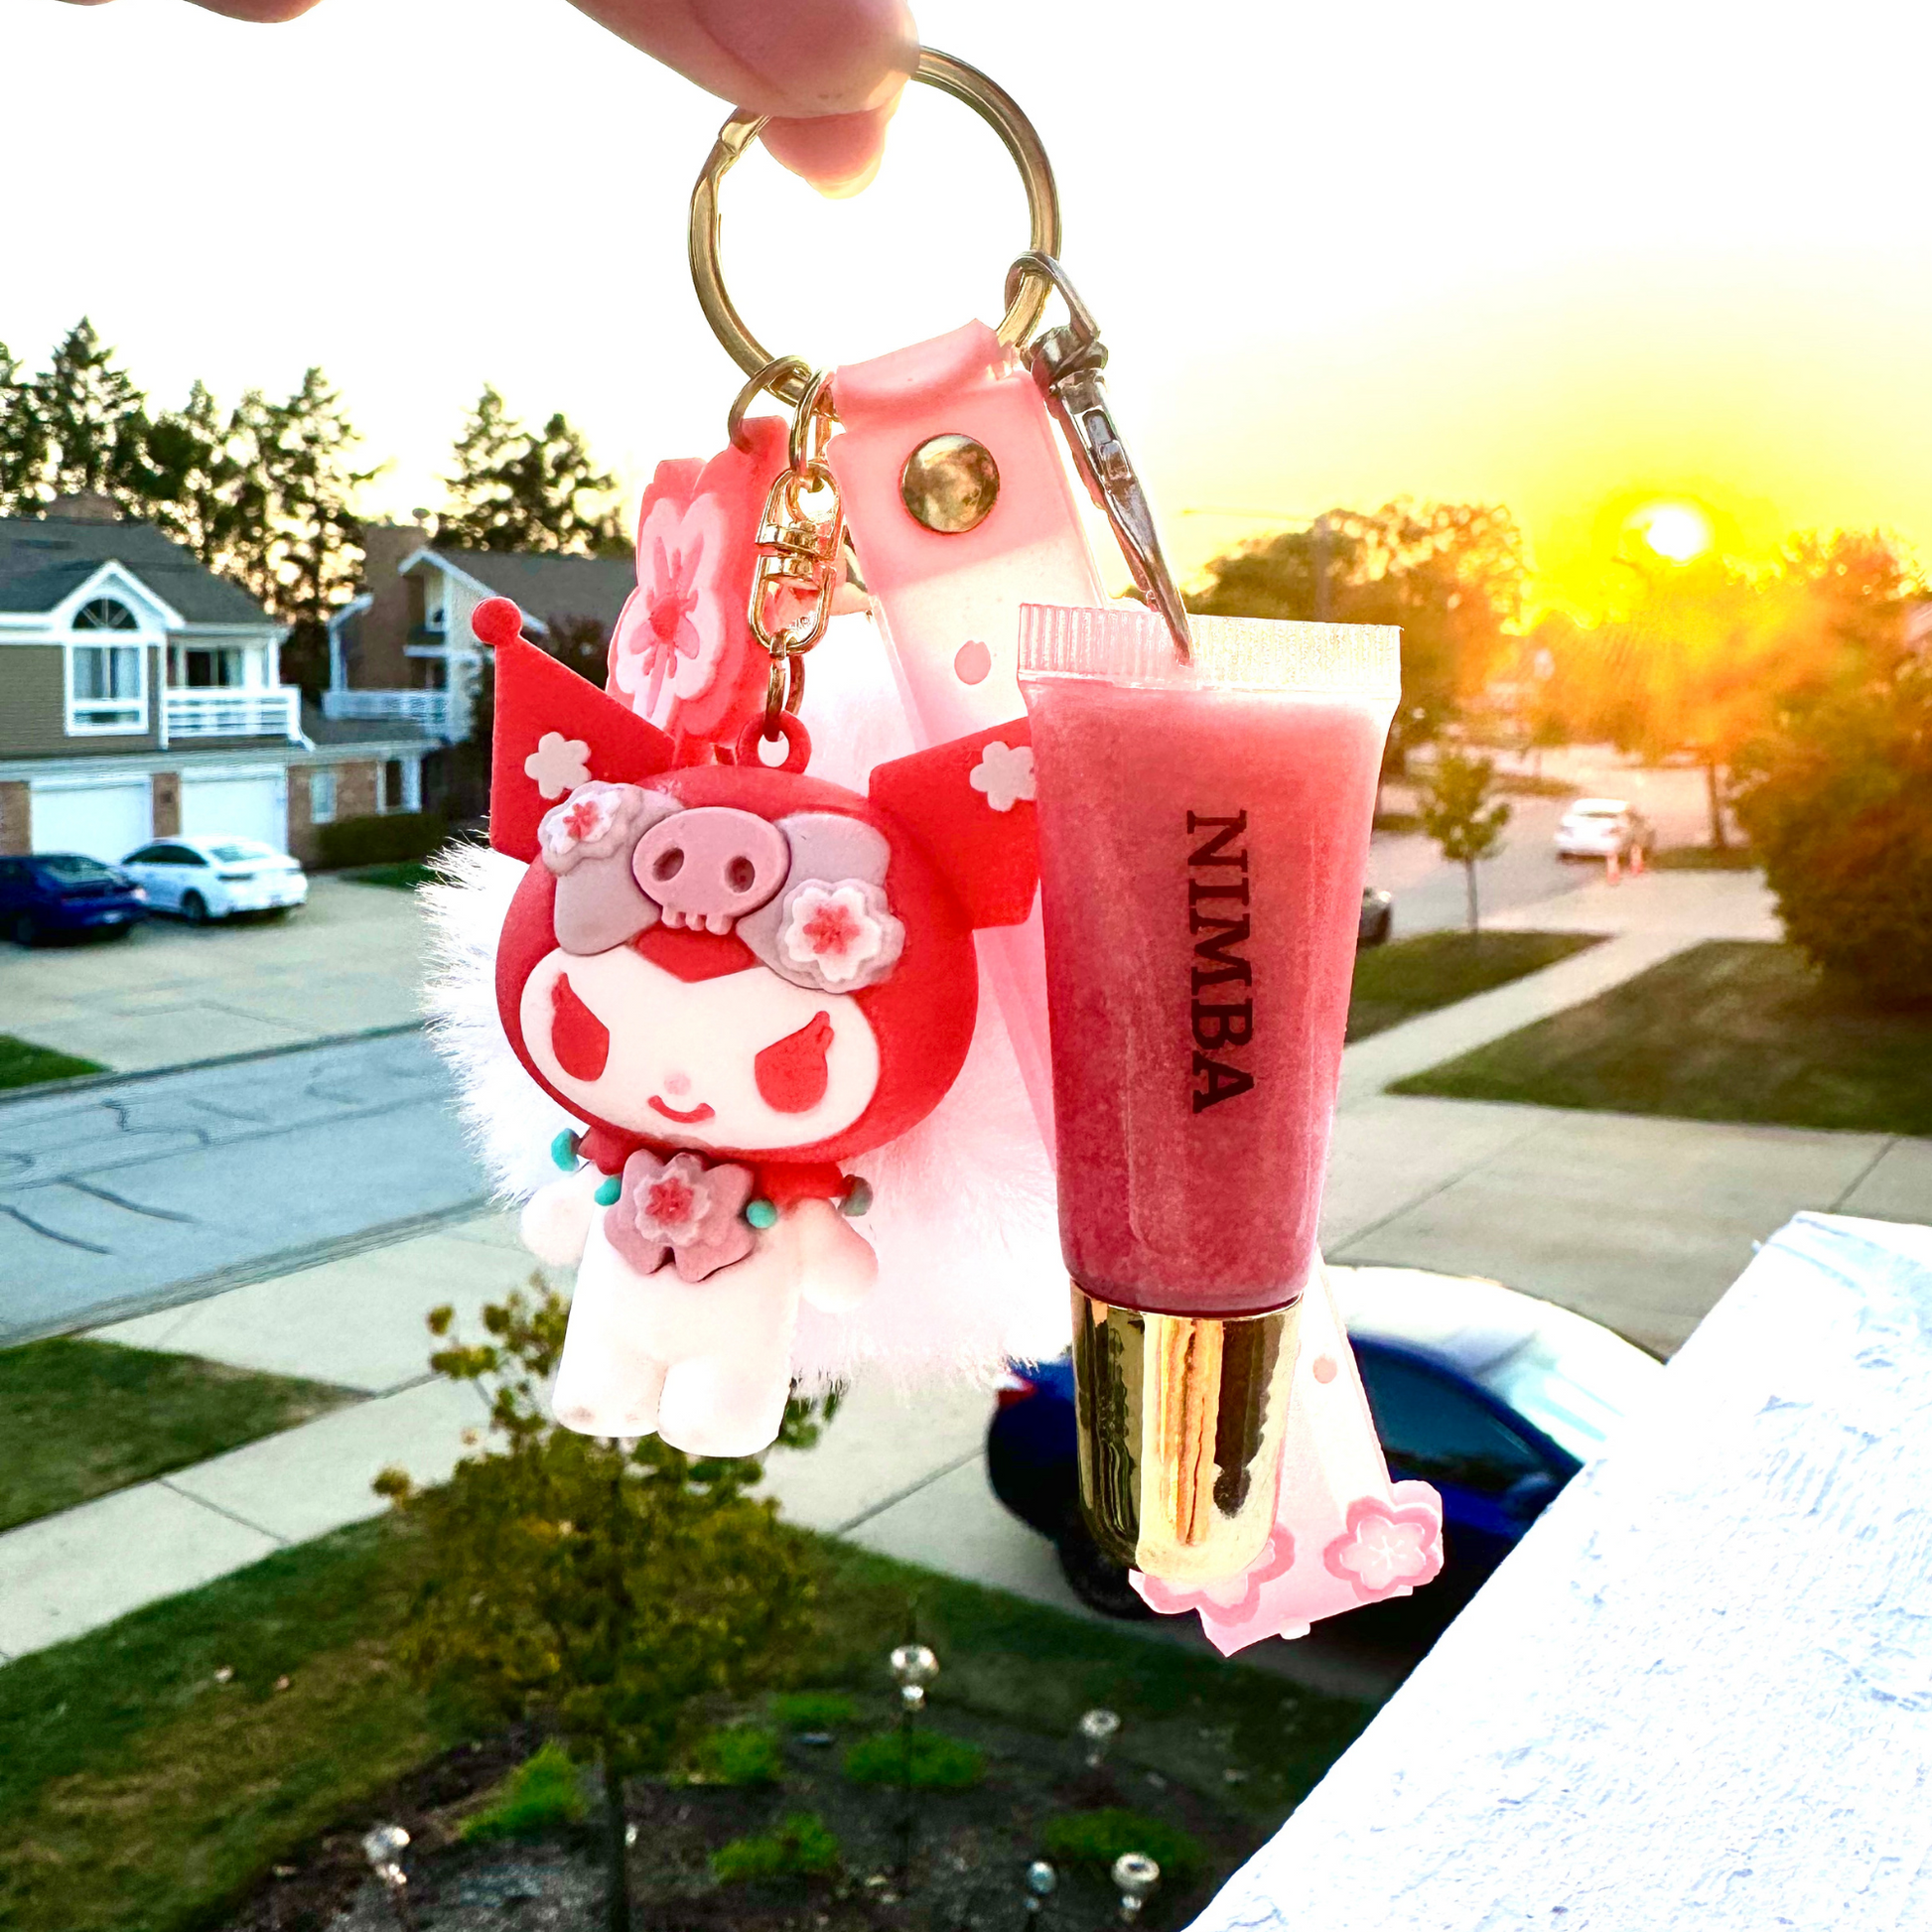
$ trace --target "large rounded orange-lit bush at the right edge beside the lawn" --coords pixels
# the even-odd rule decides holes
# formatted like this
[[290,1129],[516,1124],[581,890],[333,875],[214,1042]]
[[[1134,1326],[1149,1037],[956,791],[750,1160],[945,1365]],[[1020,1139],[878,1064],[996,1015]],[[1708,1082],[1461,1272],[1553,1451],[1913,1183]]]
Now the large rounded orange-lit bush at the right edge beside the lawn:
[[1814,966],[1932,997],[1932,665],[1787,715],[1739,759],[1737,817]]

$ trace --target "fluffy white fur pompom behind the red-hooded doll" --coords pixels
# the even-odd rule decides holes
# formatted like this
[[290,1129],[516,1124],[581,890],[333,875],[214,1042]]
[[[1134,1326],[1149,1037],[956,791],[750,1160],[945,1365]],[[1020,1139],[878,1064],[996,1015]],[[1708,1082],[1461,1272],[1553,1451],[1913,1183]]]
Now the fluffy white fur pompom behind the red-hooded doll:
[[[804,705],[811,775],[864,792],[873,765],[916,750],[885,649],[866,618],[837,618],[811,655]],[[439,860],[425,1005],[456,1072],[471,1144],[508,1202],[556,1179],[549,1146],[580,1122],[510,1051],[497,1018],[497,937],[524,867],[477,848]],[[871,1209],[852,1221],[879,1256],[877,1289],[846,1316],[800,1308],[792,1370],[821,1391],[875,1364],[902,1381],[991,1381],[1010,1358],[1066,1347],[1053,1165],[1005,1022],[980,976],[980,1020],[947,1097],[912,1132],[856,1155]]]

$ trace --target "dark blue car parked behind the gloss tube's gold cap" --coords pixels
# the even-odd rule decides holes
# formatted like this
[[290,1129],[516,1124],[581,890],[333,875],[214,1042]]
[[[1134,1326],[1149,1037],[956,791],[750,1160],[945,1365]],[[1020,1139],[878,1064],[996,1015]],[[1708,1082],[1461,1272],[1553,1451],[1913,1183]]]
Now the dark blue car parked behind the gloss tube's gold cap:
[[[1584,1316],[1495,1281],[1406,1267],[1333,1267],[1376,1434],[1401,1480],[1443,1499],[1443,1577],[1414,1602],[1455,1613],[1663,1374]],[[993,1493],[1053,1540],[1074,1594],[1144,1617],[1126,1573],[1080,1522],[1074,1372],[1014,1370],[987,1428]]]

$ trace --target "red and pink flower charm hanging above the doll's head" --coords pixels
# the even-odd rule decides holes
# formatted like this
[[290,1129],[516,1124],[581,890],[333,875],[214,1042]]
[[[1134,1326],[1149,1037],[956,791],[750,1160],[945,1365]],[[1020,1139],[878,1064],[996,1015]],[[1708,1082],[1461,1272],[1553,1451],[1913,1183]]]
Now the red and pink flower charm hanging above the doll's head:
[[638,512],[638,589],[611,634],[611,692],[680,738],[726,744],[757,713],[769,657],[752,636],[757,520],[784,462],[784,423],[748,448],[657,466]]

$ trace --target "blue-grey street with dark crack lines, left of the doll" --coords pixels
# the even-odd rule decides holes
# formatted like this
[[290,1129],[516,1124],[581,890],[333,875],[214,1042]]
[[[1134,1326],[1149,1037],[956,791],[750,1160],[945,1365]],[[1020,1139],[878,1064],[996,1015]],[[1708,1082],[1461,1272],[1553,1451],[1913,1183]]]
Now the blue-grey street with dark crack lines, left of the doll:
[[473,1213],[417,1028],[0,1103],[0,1345]]

